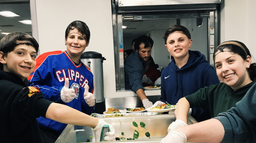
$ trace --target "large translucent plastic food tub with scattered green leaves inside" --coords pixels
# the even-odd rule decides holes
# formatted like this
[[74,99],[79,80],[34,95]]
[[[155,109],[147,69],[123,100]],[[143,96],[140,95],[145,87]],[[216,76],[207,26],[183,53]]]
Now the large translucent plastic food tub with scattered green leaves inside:
[[[135,140],[105,141],[105,143],[159,143],[167,135],[169,125],[176,120],[174,114],[100,118],[115,128],[116,137],[133,138],[135,130],[139,132],[139,137]],[[188,124],[197,123],[190,115],[188,115],[187,119]],[[133,126],[133,122],[136,122],[138,127]],[[141,122],[145,123],[145,128],[141,128]],[[124,135],[122,135],[122,132]],[[146,137],[146,132],[150,133],[150,138]],[[92,142],[93,140],[95,141],[95,137],[91,127],[68,124],[55,143],[85,143],[86,141]]]

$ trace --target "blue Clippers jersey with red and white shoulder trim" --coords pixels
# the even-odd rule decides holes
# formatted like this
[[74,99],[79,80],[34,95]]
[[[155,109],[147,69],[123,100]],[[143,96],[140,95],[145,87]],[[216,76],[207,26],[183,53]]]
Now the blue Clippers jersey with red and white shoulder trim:
[[[49,54],[50,55],[46,55]],[[41,57],[40,57],[41,56]],[[88,115],[94,112],[94,107],[85,103],[85,85],[89,85],[89,92],[93,93],[93,74],[82,62],[75,65],[66,51],[54,51],[41,54],[37,60],[41,65],[29,79],[30,86],[35,86],[42,91],[45,99],[67,105]],[[41,60],[41,61],[40,61]],[[30,77],[29,77],[30,78]],[[69,88],[75,90],[75,98],[69,103],[61,100],[60,92],[65,85],[65,78],[69,78]],[[59,123],[52,119],[37,118],[40,128],[62,132],[67,124]]]

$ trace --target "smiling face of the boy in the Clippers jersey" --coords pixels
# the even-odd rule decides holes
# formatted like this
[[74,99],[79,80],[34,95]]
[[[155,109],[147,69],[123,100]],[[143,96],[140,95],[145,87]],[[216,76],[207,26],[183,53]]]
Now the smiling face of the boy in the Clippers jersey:
[[85,48],[89,45],[89,41],[85,40],[85,35],[82,35],[76,28],[69,31],[69,35],[67,39],[65,38],[65,42],[67,44],[67,54],[72,58],[73,61],[77,57],[80,58],[82,52],[84,52]]

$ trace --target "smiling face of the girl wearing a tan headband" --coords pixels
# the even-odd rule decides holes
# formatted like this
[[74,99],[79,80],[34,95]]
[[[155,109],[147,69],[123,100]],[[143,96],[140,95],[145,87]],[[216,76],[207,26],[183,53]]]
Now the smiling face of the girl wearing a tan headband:
[[215,67],[219,79],[234,91],[252,82],[247,72],[251,64],[251,57],[247,56],[247,59],[243,60],[238,54],[225,52],[228,49],[223,51],[217,51],[215,56]]

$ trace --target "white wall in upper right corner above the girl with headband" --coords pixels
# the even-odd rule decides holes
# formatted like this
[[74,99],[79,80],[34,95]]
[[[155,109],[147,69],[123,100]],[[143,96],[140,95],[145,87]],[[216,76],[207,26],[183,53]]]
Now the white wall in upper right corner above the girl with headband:
[[256,0],[225,0],[221,4],[221,43],[237,40],[256,56]]

